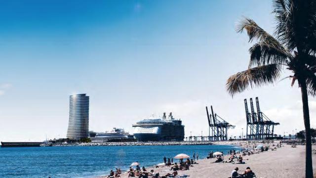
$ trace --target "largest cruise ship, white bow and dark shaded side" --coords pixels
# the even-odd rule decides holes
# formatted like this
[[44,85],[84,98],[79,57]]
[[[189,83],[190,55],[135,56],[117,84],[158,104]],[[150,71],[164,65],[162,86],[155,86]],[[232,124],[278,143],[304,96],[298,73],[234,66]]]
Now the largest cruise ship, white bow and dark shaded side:
[[134,137],[138,141],[183,141],[184,126],[180,119],[174,119],[172,113],[166,118],[144,119],[133,124]]

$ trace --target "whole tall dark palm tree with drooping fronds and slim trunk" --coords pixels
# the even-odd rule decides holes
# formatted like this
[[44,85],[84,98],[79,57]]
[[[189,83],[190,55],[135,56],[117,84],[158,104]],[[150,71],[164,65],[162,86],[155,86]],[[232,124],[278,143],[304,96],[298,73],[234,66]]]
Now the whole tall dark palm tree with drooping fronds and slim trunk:
[[233,96],[245,89],[273,84],[282,70],[293,75],[291,86],[297,81],[302,94],[306,131],[306,178],[313,177],[312,145],[308,95],[316,95],[316,0],[273,0],[276,20],[274,35],[270,35],[255,21],[244,18],[237,32],[247,32],[250,62],[247,70],[227,80],[226,89]]

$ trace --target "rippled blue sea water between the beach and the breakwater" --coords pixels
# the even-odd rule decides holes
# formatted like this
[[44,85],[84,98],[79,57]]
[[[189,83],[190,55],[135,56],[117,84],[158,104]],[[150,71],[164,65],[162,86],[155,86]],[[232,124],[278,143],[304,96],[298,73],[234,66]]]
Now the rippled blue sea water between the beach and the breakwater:
[[[210,151],[240,150],[230,145],[66,146],[0,148],[0,178],[93,178],[132,162],[153,166],[179,153],[203,159]],[[174,162],[178,161],[176,159]]]

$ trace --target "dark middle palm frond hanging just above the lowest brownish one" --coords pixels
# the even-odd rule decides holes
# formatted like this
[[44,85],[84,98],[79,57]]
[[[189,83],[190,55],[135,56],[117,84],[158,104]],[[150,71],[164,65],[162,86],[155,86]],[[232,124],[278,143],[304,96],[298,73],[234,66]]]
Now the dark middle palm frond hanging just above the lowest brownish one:
[[266,64],[287,64],[287,58],[291,58],[289,53],[282,45],[271,42],[259,42],[249,48],[251,66]]

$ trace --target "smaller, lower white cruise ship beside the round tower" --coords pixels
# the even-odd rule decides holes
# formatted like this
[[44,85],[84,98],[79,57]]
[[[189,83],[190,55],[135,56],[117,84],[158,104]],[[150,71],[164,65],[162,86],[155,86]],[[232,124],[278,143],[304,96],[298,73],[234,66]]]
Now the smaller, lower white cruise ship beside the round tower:
[[108,141],[133,141],[132,134],[125,132],[124,129],[113,128],[110,132],[96,133],[94,137],[90,137],[92,142],[108,142]]

